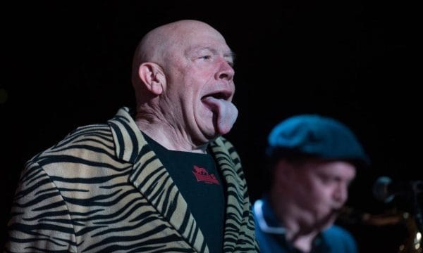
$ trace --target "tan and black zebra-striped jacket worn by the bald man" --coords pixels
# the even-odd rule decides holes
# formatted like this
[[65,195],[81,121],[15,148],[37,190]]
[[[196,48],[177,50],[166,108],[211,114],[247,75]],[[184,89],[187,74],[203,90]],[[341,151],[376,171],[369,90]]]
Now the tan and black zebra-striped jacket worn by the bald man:
[[[223,137],[209,150],[226,185],[223,252],[258,252],[240,158]],[[128,108],[32,157],[8,228],[6,252],[209,252]]]

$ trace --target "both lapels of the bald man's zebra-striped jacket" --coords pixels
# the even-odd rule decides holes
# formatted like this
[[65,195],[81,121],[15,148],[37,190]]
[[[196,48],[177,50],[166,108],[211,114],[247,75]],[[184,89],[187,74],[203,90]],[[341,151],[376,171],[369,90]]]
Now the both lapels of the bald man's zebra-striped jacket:
[[[130,115],[130,109],[123,107],[118,110],[108,124],[113,134],[117,157],[133,164],[129,181],[140,190],[140,193],[158,212],[168,219],[169,223],[192,247],[198,252],[207,252],[208,250],[204,248],[206,247],[204,235],[197,227],[194,216],[187,211],[187,202],[157,155],[149,148],[147,141]],[[247,205],[241,201],[245,183],[236,174],[236,169],[240,168],[235,168],[233,158],[228,151],[230,148],[232,148],[231,144],[222,137],[209,144],[209,150],[212,150],[217,168],[221,170],[226,185],[227,218],[223,245],[226,248],[231,247],[230,244],[226,245],[226,242],[231,242],[234,231],[240,230],[240,223],[231,222],[231,219],[242,220],[243,205]],[[239,162],[238,167],[240,167]],[[176,209],[178,212],[175,212]],[[234,212],[233,209],[237,212]]]

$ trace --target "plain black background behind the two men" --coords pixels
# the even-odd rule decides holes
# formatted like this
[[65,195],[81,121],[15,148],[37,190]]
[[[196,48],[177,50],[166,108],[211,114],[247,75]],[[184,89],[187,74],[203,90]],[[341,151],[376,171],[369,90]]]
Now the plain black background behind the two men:
[[[57,1],[59,2],[59,1]],[[422,179],[422,119],[416,6],[407,1],[37,1],[4,4],[0,82],[1,245],[20,170],[75,127],[105,122],[133,106],[130,64],[145,32],[179,19],[219,30],[237,54],[238,121],[226,137],[240,153],[250,197],[264,189],[264,148],[274,124],[297,113],[344,122],[372,166],[359,171],[343,221],[362,252],[396,252],[403,223],[373,215],[410,212],[398,197],[374,200],[378,176]],[[419,29],[417,29],[419,26]],[[421,72],[421,67],[419,67]]]

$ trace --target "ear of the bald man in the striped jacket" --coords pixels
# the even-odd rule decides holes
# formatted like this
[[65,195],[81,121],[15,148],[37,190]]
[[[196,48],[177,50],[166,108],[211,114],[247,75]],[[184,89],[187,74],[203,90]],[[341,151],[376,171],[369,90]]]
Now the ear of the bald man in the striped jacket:
[[142,63],[138,68],[138,75],[147,90],[154,95],[160,95],[166,86],[166,77],[163,70],[156,63]]

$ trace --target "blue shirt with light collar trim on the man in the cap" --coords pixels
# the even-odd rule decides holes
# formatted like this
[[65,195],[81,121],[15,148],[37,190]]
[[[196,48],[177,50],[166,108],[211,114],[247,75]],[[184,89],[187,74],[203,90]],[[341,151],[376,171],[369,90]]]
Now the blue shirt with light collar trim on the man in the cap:
[[[260,252],[301,252],[286,240],[286,229],[276,219],[276,215],[266,197],[255,202],[253,214]],[[310,253],[357,253],[357,244],[348,231],[340,226],[333,225],[317,235]]]

